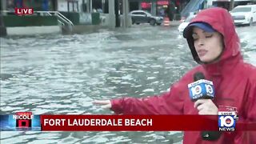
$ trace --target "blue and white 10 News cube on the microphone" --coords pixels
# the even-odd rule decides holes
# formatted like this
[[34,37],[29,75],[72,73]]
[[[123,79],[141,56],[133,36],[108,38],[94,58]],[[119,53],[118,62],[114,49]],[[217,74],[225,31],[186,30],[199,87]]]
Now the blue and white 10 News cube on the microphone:
[[200,98],[214,98],[213,82],[200,79],[188,85],[190,90],[190,99],[196,101]]

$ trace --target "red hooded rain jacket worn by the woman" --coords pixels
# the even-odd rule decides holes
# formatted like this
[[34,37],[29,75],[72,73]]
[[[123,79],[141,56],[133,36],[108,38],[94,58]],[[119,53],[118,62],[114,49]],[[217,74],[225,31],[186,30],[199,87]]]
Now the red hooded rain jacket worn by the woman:
[[[186,73],[160,96],[147,98],[117,98],[111,100],[116,114],[198,114],[191,102],[187,85],[194,82],[195,72],[202,72],[206,79],[214,82],[216,106],[232,106],[238,110],[238,121],[256,121],[256,68],[243,62],[240,42],[230,14],[222,8],[202,10],[192,22],[206,22],[222,34],[225,48],[220,61],[202,64]],[[191,22],[191,23],[192,23]],[[187,38],[194,54],[194,44]],[[217,141],[204,141],[200,131],[185,131],[183,143],[256,143],[255,132],[223,133]]]

